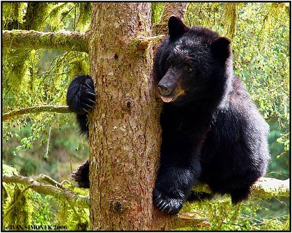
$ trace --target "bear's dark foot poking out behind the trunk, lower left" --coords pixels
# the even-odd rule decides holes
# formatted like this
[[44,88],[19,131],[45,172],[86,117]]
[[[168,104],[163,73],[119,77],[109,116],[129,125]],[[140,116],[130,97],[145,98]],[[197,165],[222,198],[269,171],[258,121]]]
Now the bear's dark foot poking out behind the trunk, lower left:
[[83,164],[80,164],[73,171],[71,177],[79,188],[89,189],[89,160],[87,159]]

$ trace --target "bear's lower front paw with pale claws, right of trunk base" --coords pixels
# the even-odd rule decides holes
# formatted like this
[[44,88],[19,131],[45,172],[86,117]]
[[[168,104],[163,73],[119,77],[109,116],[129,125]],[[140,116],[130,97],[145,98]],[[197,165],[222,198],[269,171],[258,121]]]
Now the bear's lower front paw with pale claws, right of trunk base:
[[153,191],[153,203],[161,211],[175,215],[182,207],[183,198],[176,197],[176,195],[170,197],[155,188]]

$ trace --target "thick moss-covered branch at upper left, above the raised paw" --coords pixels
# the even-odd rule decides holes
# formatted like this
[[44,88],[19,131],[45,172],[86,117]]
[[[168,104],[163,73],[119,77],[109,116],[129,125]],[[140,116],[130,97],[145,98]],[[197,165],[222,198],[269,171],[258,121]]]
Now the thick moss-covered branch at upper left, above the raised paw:
[[85,33],[2,31],[2,45],[8,49],[53,49],[88,52]]

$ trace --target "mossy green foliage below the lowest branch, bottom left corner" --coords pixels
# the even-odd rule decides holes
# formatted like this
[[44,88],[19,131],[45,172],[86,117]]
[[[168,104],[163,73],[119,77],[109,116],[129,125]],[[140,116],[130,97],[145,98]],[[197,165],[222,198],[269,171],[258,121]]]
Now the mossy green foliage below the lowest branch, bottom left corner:
[[[3,173],[13,175],[17,171],[3,164]],[[66,188],[78,194],[89,194],[88,190],[75,188],[71,183]],[[4,226],[62,225],[67,226],[66,230],[89,230],[88,208],[76,208],[62,198],[41,196],[22,184],[4,182],[2,195]]]

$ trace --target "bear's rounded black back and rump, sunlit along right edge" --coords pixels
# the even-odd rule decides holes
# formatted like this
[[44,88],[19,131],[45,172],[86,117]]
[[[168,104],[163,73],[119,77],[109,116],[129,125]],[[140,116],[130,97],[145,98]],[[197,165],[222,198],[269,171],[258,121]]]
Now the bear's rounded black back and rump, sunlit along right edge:
[[269,160],[268,125],[237,77],[232,79],[227,105],[213,117],[202,148],[202,179],[216,183],[221,178],[234,179],[234,174],[253,174],[251,180],[264,175]]

